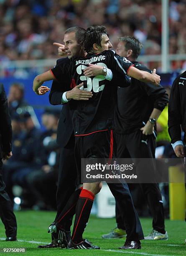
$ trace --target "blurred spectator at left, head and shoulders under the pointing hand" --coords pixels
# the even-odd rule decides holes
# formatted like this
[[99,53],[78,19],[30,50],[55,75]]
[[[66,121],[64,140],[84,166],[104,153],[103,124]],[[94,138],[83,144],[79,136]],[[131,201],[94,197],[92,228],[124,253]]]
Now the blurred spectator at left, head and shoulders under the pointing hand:
[[13,83],[8,93],[8,106],[12,117],[18,108],[23,108],[28,104],[24,100],[24,87],[22,84]]

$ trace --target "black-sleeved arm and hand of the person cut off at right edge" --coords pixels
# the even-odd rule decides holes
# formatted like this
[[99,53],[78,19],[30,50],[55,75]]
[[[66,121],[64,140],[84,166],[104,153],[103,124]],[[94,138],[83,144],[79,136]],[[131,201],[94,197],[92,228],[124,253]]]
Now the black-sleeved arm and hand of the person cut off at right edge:
[[168,133],[171,145],[177,157],[184,157],[183,141],[181,140],[181,100],[178,88],[178,78],[173,82],[168,104]]

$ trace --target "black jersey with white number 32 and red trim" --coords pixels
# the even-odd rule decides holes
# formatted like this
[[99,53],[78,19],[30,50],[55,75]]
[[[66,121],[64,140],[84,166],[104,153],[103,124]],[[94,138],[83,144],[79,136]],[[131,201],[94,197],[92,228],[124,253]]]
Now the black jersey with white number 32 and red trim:
[[[93,92],[93,97],[87,101],[71,100],[69,102],[75,136],[88,135],[97,131],[114,128],[115,101],[117,85],[109,82],[103,75],[86,77],[83,70],[89,63],[112,69],[112,72],[123,74],[123,85],[126,84],[127,72],[133,64],[127,59],[115,54],[114,51],[103,51],[101,54],[88,54],[86,57],[74,57],[70,64],[59,64],[51,72],[59,82],[64,75],[70,74],[71,88],[84,82],[80,88]],[[127,80],[128,81],[128,80]],[[128,84],[126,84],[128,86]]]

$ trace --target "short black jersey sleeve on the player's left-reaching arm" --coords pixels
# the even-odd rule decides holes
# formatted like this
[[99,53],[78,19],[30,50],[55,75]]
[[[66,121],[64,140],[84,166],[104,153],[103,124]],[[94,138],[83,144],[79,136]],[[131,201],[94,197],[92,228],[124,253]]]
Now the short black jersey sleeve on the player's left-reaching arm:
[[51,73],[60,84],[70,78],[70,64],[61,63],[51,69]]

